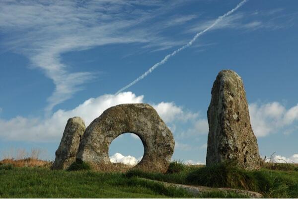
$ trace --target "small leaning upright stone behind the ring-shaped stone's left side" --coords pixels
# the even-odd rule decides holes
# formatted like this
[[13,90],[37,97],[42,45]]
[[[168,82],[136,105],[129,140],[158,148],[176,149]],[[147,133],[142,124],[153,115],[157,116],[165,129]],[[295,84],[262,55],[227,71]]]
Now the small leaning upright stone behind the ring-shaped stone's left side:
[[52,169],[67,169],[75,161],[85,129],[85,123],[80,117],[73,117],[67,121]]

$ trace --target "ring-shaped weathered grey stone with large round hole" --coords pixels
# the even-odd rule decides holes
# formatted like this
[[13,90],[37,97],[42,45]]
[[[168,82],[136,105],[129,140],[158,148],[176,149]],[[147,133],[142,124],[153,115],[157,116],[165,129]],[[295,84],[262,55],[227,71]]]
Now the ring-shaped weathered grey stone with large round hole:
[[174,152],[174,138],[155,109],[145,103],[120,104],[105,110],[87,127],[76,159],[99,170],[107,165],[113,167],[108,155],[109,146],[126,132],[138,135],[144,145],[143,159],[135,168],[166,172]]

